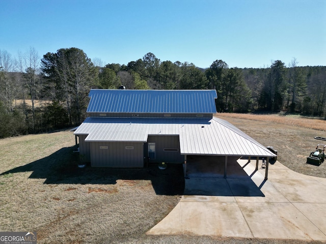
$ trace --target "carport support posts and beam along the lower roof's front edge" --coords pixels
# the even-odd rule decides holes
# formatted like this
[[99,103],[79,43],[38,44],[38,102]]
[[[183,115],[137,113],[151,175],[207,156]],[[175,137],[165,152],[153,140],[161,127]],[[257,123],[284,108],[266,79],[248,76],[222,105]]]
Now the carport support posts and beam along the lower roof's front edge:
[[227,178],[227,169],[228,169],[228,158],[229,157],[238,157],[239,159],[242,157],[248,157],[248,163],[251,161],[251,158],[256,158],[256,171],[258,170],[258,162],[259,158],[264,158],[266,159],[266,168],[265,168],[265,180],[268,178],[268,164],[269,164],[269,159],[274,156],[271,155],[207,155],[207,154],[182,154],[184,155],[184,163],[183,163],[183,174],[184,177],[187,178],[187,155],[188,156],[222,156],[225,158],[224,160],[224,178]]

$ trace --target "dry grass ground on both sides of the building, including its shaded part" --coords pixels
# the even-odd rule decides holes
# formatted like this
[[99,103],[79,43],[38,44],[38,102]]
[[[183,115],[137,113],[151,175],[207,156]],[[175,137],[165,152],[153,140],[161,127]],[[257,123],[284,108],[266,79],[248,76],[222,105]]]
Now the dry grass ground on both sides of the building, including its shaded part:
[[[221,117],[296,172],[326,177],[326,162],[306,164],[321,131]],[[146,236],[179,202],[182,167],[77,168],[69,131],[0,140],[0,231],[37,231],[38,243],[320,243],[205,236]]]

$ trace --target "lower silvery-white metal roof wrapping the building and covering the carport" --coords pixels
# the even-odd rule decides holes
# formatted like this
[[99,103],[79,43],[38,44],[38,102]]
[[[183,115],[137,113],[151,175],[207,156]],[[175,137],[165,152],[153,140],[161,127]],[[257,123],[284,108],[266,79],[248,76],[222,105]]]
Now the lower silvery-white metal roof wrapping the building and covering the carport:
[[89,117],[74,132],[86,142],[146,142],[148,135],[179,135],[183,155],[275,157],[266,147],[220,118]]

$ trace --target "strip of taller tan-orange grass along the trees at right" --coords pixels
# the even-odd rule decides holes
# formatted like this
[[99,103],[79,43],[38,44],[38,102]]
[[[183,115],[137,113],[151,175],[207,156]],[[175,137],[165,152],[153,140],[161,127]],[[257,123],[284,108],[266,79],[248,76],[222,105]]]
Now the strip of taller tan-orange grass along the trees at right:
[[244,114],[244,113],[218,113],[216,117],[242,118],[249,120],[266,121],[289,126],[326,131],[326,120],[320,118],[307,118],[300,115],[284,114]]

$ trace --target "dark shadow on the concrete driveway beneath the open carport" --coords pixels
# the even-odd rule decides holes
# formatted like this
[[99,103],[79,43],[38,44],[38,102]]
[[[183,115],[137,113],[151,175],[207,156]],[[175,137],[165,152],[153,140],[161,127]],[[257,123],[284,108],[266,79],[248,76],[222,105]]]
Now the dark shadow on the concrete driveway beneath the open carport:
[[[227,177],[224,178],[225,158],[222,156],[187,157],[187,177],[183,195],[264,197],[260,185],[252,177],[257,170],[250,163],[241,166],[239,157],[228,157]],[[250,169],[247,172],[244,168]]]

